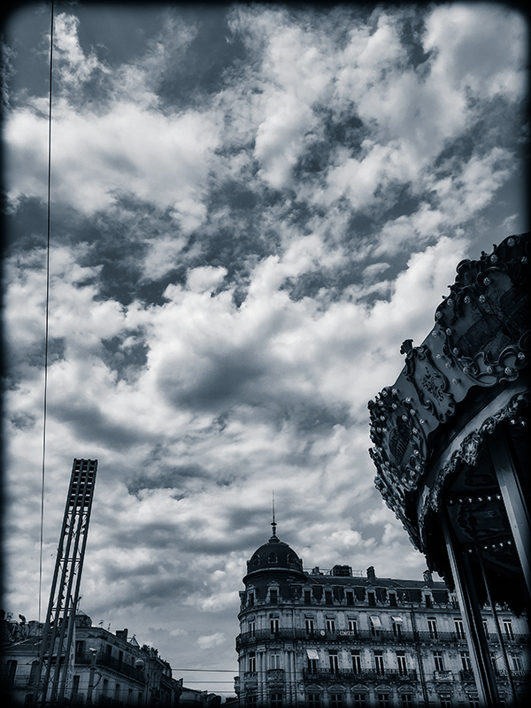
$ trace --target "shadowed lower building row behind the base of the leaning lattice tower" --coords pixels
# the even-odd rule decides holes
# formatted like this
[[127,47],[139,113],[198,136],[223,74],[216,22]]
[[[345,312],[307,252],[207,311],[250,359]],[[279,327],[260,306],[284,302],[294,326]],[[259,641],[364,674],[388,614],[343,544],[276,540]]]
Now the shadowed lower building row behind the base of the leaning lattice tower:
[[[4,705],[29,705],[39,676],[42,623],[1,622],[0,677]],[[173,708],[182,681],[158,650],[139,646],[127,629],[115,634],[92,625],[83,612],[75,619],[75,639],[66,679],[65,704]]]

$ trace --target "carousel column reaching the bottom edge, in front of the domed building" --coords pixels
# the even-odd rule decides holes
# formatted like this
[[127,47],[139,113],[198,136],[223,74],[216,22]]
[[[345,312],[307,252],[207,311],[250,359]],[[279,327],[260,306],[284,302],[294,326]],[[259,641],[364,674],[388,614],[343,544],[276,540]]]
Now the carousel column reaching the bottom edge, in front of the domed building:
[[470,560],[459,547],[446,508],[442,512],[444,541],[458,595],[480,704],[481,706],[486,706],[486,708],[497,708],[500,702],[496,688],[496,677],[483,628],[481,607],[473,586]]

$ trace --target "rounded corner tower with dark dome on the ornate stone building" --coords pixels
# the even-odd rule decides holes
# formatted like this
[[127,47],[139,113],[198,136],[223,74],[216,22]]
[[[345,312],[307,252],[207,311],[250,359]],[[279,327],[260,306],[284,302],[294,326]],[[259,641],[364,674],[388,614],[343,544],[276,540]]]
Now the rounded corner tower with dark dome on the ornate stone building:
[[[288,543],[273,535],[247,562],[240,593],[240,635],[236,639],[242,705],[296,704],[294,608],[306,582],[303,561]],[[293,695],[291,695],[293,694]]]

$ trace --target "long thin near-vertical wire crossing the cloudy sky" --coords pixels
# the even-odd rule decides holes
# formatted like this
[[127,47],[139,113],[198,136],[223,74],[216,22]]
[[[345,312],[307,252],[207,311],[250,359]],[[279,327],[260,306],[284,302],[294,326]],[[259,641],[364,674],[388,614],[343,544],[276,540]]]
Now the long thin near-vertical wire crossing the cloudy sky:
[[50,92],[48,101],[48,213],[46,219],[46,312],[44,315],[44,393],[42,404],[41,538],[39,552],[39,622],[41,621],[42,548],[44,539],[44,469],[46,460],[46,419],[48,403],[48,330],[50,320],[50,185],[51,185],[51,76],[53,60],[53,0],[50,17]]

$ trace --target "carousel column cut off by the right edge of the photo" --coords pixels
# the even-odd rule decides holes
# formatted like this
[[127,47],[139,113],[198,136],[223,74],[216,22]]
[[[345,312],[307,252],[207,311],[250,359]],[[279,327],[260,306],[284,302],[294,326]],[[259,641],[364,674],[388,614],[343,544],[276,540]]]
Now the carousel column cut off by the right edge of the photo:
[[527,586],[527,601],[531,596],[531,523],[526,498],[515,469],[507,432],[502,429],[494,439],[488,439],[490,459],[504,500],[505,512],[511,525],[512,537],[519,555],[522,573]]

